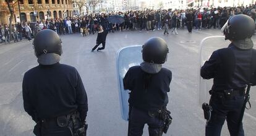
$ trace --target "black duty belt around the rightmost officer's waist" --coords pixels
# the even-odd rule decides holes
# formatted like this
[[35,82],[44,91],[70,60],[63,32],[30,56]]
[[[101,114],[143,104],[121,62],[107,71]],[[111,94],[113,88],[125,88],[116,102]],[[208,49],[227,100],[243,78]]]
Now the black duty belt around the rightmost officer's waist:
[[229,89],[229,90],[210,90],[210,95],[218,96],[223,94],[224,96],[244,96],[245,88]]

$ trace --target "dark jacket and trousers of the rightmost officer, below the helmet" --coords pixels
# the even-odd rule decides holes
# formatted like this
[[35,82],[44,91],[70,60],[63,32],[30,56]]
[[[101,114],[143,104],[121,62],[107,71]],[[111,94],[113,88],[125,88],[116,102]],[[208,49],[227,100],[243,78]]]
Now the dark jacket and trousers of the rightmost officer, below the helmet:
[[[206,135],[220,135],[225,119],[231,136],[237,136],[239,118],[244,104],[244,91],[248,83],[255,79],[255,49],[239,49],[231,43],[228,48],[213,52],[201,69],[203,79],[213,78],[210,105],[211,119],[206,127]],[[239,136],[244,135],[242,125]]]

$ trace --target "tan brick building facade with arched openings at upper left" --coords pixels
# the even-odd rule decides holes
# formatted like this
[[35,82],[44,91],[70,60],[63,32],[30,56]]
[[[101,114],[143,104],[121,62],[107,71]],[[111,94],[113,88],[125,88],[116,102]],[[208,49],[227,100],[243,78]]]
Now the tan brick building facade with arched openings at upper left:
[[[9,23],[9,9],[1,1],[0,23]],[[5,7],[4,7],[5,6]],[[14,4],[15,22],[36,22],[38,20],[56,19],[74,15],[72,0],[20,0]],[[20,12],[19,12],[20,7]]]

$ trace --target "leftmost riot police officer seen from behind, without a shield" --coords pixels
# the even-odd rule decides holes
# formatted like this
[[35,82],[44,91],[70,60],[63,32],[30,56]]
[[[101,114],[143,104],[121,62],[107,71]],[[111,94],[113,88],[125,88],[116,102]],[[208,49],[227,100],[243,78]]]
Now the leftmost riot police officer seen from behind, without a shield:
[[34,134],[86,135],[87,93],[79,72],[59,63],[59,35],[42,30],[33,46],[39,65],[25,73],[22,93],[24,109],[36,122]]

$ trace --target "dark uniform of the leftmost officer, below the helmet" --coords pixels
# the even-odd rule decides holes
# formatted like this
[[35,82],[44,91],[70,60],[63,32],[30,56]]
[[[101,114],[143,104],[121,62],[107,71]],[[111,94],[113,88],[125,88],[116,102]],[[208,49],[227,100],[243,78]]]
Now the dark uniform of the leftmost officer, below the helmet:
[[25,73],[22,89],[24,109],[37,123],[35,134],[71,135],[68,126],[58,125],[57,118],[76,112],[80,122],[85,122],[87,94],[74,67],[40,64]]

